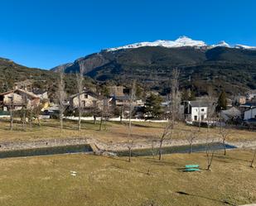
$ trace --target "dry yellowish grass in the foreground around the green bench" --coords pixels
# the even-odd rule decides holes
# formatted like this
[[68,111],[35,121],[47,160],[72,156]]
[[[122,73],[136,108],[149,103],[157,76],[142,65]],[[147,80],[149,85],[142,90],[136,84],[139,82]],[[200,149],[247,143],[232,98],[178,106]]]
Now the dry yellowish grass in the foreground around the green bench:
[[[204,153],[157,158],[108,158],[83,154],[0,160],[1,206],[182,206],[256,203],[251,151],[215,155],[212,170],[185,173],[186,164],[206,167]],[[77,172],[70,175],[70,170]],[[147,175],[149,170],[149,175]],[[225,204],[229,203],[229,204]]]

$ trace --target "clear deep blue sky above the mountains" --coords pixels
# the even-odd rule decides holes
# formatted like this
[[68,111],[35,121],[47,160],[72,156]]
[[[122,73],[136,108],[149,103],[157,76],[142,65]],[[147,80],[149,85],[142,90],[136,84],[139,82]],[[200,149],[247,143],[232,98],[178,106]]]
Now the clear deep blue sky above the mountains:
[[50,69],[104,48],[183,35],[256,46],[255,9],[254,0],[5,0],[0,56]]

